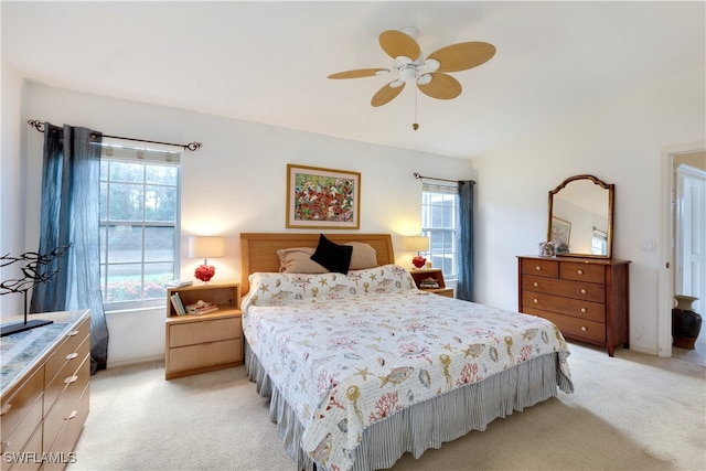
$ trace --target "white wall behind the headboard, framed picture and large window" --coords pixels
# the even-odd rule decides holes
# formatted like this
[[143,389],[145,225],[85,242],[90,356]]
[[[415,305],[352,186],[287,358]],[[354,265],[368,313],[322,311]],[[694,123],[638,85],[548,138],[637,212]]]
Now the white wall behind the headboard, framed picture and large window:
[[[387,148],[179,109],[117,100],[30,84],[28,119],[85,126],[113,136],[186,143],[201,141],[183,159],[182,271],[193,278],[201,260],[188,258],[191,234],[227,236],[226,257],[211,260],[216,280],[239,280],[239,233],[285,232],[287,163],[361,172],[361,228],[392,233],[397,261],[411,265],[402,236],[420,229],[421,184],[414,172],[471,178],[469,160]],[[43,135],[26,135],[25,205],[15,213],[26,245],[39,240]],[[26,221],[22,222],[24,212]],[[3,224],[4,226],[4,224]],[[3,229],[4,231],[4,229]],[[299,231],[303,232],[303,231]],[[317,231],[310,231],[317,232]],[[108,314],[108,366],[149,360],[164,352],[164,312]]]

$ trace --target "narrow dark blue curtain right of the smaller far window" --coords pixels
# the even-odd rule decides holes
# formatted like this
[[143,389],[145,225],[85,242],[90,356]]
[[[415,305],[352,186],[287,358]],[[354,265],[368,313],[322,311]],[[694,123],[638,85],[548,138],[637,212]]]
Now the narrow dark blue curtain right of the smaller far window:
[[472,180],[459,181],[459,281],[456,297],[473,300],[473,188]]

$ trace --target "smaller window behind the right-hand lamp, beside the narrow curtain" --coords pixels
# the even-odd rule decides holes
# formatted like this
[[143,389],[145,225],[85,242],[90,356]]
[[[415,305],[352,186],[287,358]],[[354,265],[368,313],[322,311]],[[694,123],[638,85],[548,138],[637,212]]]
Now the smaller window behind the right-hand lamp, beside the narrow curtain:
[[432,267],[441,268],[447,280],[458,279],[458,205],[456,186],[422,183],[421,233],[430,237],[424,256]]

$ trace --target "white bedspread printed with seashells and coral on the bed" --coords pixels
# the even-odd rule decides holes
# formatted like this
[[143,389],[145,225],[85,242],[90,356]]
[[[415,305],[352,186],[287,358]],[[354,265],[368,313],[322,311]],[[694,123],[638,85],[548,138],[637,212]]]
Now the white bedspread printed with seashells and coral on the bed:
[[328,470],[353,465],[367,426],[521,362],[561,352],[570,378],[552,322],[419,291],[396,265],[249,281],[247,341],[296,410],[302,448]]

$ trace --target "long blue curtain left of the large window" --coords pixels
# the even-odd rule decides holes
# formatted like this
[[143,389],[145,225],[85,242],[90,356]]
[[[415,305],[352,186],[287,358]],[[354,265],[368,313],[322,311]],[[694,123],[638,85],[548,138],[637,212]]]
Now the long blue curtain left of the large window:
[[108,327],[100,295],[100,142],[86,128],[44,124],[40,254],[71,245],[32,291],[30,312],[90,309],[90,374],[105,370]]

